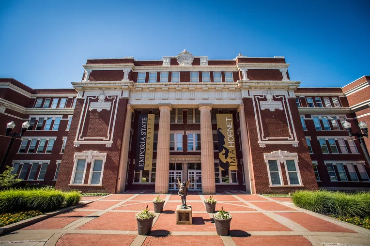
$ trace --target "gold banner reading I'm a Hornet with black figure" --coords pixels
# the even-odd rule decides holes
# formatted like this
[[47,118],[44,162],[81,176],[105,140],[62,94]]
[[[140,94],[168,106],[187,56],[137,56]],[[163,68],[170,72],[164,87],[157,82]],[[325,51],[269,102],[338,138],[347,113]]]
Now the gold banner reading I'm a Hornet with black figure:
[[232,114],[216,114],[218,158],[221,170],[237,170],[234,122]]

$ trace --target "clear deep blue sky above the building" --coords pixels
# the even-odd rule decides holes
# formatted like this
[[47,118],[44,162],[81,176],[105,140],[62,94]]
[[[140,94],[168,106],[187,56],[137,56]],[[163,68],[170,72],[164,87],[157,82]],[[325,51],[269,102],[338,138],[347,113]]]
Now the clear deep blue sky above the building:
[[0,1],[0,77],[71,88],[88,58],[285,56],[304,87],[370,75],[369,0]]

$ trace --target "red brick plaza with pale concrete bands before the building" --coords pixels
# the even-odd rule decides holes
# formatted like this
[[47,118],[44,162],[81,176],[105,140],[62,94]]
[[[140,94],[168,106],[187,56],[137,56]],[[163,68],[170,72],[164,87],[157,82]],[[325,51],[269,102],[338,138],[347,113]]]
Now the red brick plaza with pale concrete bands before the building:
[[[135,214],[145,206],[153,211],[150,192],[83,197],[92,203],[56,215],[22,230],[0,237],[10,246],[370,246],[370,230],[324,215],[296,208],[290,198],[268,198],[243,192],[214,195],[231,212],[230,236],[218,236],[213,214],[207,214],[205,196],[190,193],[193,225],[176,225],[175,209],[181,203],[176,194],[161,195],[164,212],[156,214],[152,233],[140,236]],[[206,196],[208,197],[208,196]]]

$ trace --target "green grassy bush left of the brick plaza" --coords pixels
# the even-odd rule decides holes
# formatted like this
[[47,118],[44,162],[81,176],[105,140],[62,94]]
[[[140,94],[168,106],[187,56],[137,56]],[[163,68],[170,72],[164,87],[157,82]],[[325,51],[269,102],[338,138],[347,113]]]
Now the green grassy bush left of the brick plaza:
[[50,212],[79,201],[78,192],[43,189],[9,189],[0,191],[0,213],[39,210]]

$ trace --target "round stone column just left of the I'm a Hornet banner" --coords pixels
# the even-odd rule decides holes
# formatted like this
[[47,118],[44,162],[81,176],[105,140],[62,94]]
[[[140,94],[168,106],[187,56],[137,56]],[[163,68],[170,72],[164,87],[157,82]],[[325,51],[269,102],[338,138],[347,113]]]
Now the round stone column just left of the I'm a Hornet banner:
[[215,194],[215,158],[213,154],[213,134],[210,105],[200,105],[200,150],[201,150],[201,189],[203,194]]

